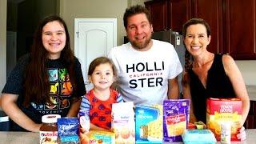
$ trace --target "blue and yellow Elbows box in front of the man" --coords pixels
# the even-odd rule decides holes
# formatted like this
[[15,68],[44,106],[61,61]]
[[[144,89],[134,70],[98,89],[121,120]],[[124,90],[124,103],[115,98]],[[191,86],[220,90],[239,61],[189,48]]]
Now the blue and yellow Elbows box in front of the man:
[[135,106],[136,143],[162,143],[162,106]]

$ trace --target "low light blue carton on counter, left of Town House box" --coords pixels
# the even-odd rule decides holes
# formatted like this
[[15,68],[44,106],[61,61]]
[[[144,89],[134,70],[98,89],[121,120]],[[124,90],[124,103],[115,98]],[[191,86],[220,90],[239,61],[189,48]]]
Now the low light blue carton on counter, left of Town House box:
[[185,144],[215,144],[216,138],[208,129],[184,130],[182,139]]

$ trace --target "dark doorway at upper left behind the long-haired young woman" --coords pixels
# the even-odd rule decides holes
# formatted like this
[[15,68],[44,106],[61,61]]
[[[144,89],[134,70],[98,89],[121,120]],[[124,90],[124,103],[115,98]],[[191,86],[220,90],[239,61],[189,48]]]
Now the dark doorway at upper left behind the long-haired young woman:
[[[30,52],[38,22],[59,14],[59,0],[7,0],[6,77],[22,55]],[[9,65],[10,64],[10,65]]]

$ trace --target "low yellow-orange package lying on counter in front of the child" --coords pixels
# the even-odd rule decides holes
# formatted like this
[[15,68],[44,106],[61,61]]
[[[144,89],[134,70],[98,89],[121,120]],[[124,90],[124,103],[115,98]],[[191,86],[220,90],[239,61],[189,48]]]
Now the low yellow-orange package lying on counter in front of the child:
[[90,144],[108,143],[114,144],[113,132],[102,131],[102,130],[90,130]]

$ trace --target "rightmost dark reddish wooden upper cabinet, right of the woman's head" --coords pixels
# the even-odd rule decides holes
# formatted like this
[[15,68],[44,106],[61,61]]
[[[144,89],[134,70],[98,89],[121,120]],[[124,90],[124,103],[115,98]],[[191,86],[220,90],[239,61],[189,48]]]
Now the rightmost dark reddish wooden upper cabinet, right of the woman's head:
[[235,59],[256,59],[256,0],[226,0],[223,46]]

